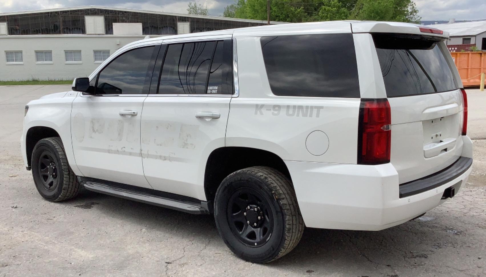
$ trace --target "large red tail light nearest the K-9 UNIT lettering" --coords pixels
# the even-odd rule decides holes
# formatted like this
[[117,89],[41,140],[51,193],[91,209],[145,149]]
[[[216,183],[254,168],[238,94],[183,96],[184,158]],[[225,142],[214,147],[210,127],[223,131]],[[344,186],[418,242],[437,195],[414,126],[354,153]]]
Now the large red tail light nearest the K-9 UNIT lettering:
[[390,162],[391,112],[388,99],[361,99],[358,125],[358,163]]

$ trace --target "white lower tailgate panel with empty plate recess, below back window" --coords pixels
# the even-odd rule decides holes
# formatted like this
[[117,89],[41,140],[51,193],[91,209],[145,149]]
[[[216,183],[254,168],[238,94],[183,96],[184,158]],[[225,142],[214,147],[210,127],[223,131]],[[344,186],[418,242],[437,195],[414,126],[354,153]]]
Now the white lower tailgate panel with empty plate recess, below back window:
[[[390,162],[399,173],[399,183],[430,175],[459,159],[463,147],[460,136],[464,109],[459,90],[389,98],[388,101],[392,112]],[[436,138],[436,133],[441,137]],[[425,156],[426,146],[447,139],[453,140],[447,151],[429,158]]]

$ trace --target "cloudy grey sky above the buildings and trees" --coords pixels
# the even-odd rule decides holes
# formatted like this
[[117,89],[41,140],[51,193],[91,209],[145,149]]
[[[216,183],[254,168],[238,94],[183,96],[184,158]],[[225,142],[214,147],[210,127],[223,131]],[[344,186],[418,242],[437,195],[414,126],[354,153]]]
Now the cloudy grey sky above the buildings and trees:
[[[196,0],[211,16],[221,16],[236,0]],[[486,0],[414,0],[422,20],[486,19]],[[187,13],[189,0],[0,0],[0,12],[15,12],[86,5],[111,6],[149,11]]]

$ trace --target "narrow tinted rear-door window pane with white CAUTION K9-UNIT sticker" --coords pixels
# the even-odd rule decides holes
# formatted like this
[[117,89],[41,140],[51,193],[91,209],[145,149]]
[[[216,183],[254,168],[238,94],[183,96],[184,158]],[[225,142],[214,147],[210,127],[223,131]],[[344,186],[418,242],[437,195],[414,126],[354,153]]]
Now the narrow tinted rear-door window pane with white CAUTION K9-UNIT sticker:
[[231,40],[218,41],[209,71],[208,94],[233,94]]

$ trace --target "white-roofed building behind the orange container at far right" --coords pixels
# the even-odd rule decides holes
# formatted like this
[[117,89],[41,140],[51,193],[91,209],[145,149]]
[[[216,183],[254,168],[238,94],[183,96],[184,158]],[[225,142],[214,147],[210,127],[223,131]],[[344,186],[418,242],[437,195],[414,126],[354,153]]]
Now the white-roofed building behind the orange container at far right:
[[449,32],[450,39],[447,41],[447,45],[452,52],[471,46],[486,50],[486,20],[454,22],[451,19],[449,23],[429,26]]

